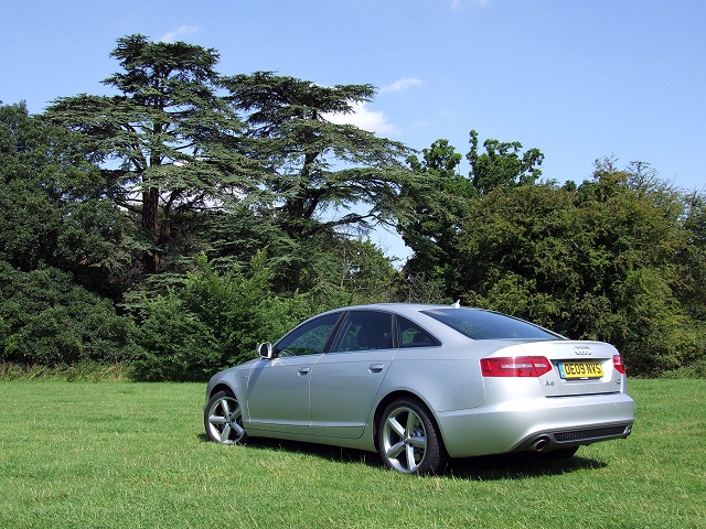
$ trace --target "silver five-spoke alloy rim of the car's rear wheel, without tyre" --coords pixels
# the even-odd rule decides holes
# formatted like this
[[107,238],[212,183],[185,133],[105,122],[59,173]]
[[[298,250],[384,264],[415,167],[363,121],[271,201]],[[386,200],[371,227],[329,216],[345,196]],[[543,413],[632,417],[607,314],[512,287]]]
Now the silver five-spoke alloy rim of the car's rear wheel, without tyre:
[[415,472],[427,453],[427,432],[415,410],[400,406],[387,414],[383,427],[383,451],[398,472]]

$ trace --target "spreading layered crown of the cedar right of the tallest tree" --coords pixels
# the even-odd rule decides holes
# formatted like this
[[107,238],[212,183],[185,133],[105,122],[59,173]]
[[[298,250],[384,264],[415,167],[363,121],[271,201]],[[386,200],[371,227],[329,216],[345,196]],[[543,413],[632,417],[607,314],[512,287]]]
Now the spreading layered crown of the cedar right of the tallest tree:
[[223,84],[248,126],[239,152],[265,168],[250,199],[276,212],[292,239],[393,218],[409,149],[332,122],[372,100],[371,85],[323,87],[271,72],[224,77]]

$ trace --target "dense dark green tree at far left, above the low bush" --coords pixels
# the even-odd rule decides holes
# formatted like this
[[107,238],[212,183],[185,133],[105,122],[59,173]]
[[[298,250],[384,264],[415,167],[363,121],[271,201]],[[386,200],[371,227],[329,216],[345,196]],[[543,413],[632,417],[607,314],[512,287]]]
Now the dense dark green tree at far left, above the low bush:
[[24,105],[0,106],[0,260],[23,271],[69,271],[86,288],[117,298],[131,263],[124,216],[94,196],[98,172],[72,140]]

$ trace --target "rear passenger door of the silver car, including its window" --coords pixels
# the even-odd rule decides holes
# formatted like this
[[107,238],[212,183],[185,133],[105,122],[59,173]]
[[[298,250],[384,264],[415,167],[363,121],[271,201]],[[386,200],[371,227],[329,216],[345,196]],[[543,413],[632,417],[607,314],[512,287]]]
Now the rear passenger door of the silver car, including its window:
[[356,439],[363,434],[375,395],[396,352],[393,317],[350,311],[330,352],[311,371],[310,409],[314,435]]

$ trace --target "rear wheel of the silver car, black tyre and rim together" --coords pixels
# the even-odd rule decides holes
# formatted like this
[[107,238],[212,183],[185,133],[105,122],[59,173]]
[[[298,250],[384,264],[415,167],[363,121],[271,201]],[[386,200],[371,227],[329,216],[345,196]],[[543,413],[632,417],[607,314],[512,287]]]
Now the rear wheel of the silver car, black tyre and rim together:
[[418,475],[443,471],[448,457],[443,441],[434,417],[419,401],[395,400],[377,427],[377,450],[389,468]]

